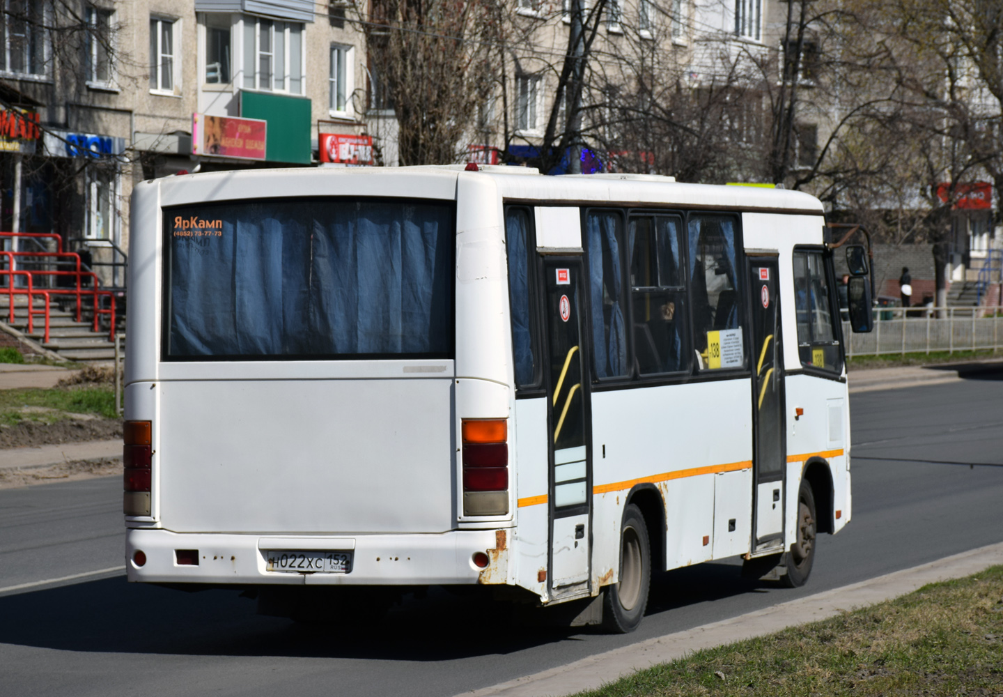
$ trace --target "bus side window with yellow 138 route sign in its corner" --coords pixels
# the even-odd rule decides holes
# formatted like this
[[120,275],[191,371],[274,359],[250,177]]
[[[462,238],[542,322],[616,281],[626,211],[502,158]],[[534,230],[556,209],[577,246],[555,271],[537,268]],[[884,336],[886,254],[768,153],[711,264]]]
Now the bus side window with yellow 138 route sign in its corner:
[[743,294],[738,285],[733,216],[689,218],[690,311],[700,370],[742,368]]

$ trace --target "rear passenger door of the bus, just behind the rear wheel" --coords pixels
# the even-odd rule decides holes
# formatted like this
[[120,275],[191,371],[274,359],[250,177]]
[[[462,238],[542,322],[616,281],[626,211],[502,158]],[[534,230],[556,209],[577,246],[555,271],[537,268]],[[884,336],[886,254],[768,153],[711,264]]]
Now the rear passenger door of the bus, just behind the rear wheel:
[[551,598],[589,590],[592,455],[580,258],[542,257],[547,322]]

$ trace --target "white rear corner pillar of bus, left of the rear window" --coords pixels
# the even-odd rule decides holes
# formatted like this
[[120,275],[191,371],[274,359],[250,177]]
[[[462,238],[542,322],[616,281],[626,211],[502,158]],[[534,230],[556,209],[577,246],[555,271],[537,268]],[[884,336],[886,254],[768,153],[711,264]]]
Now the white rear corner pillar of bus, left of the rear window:
[[[128,240],[128,291],[125,308],[128,352],[125,354],[125,384],[155,380],[160,320],[160,186],[140,182],[132,190]],[[127,398],[126,398],[127,399]],[[127,409],[127,407],[126,407]],[[135,417],[126,417],[135,418]]]

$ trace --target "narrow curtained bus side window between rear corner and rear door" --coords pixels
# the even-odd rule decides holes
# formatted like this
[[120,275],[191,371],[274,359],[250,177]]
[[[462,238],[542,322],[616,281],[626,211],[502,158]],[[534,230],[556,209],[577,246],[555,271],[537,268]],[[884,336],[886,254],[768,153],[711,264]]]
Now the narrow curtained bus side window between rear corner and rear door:
[[512,345],[516,362],[516,387],[540,386],[536,341],[536,311],[533,301],[533,256],[536,246],[531,229],[530,211],[510,207],[506,210],[505,230],[509,253],[509,298],[512,307]]

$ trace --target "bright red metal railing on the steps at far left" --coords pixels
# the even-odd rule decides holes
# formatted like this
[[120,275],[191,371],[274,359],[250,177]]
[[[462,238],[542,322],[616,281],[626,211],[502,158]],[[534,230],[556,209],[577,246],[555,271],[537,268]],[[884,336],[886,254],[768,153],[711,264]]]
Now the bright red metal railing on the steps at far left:
[[[43,233],[43,232],[0,232],[0,239],[2,238],[46,238],[54,239],[56,241],[56,251],[54,252],[41,252],[41,251],[0,251],[0,256],[2,256],[7,261],[7,268],[0,269],[0,277],[7,276],[7,294],[9,296],[10,302],[10,312],[9,320],[14,321],[14,296],[15,295],[27,295],[28,296],[28,333],[34,331],[34,315],[44,314],[45,316],[45,342],[49,340],[49,324],[50,324],[50,296],[51,295],[73,295],[76,298],[76,321],[82,321],[82,310],[83,310],[83,297],[89,295],[93,298],[93,314],[94,314],[94,331],[99,331],[99,318],[102,314],[107,314],[110,324],[110,331],[108,337],[114,339],[115,337],[115,295],[110,290],[106,290],[100,287],[100,279],[97,277],[93,271],[85,271],[81,268],[80,255],[76,252],[64,252],[62,247],[62,236],[55,233]],[[65,259],[64,263],[72,263],[75,265],[75,270],[72,271],[61,271],[61,270],[48,270],[48,269],[31,269],[31,270],[21,270],[16,268],[16,258],[17,257],[30,257],[32,259],[38,259],[39,257],[51,258],[53,261],[51,263],[58,264],[60,259]],[[46,263],[46,262],[40,262]],[[15,288],[14,278],[17,276],[27,277],[27,288]],[[45,288],[35,289],[34,288],[34,277],[35,276],[72,276],[76,283],[75,287],[70,288]],[[83,281],[89,280],[90,287],[84,287]],[[42,295],[45,298],[45,309],[35,309],[34,308],[34,297],[35,295]],[[101,306],[101,297],[108,298],[108,306]]]

